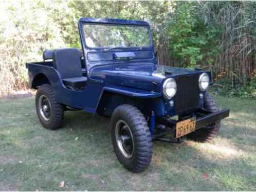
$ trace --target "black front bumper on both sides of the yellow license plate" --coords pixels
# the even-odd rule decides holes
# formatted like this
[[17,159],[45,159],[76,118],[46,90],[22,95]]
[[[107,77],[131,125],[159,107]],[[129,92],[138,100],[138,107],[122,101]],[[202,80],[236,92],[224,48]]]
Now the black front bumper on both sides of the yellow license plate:
[[[198,130],[202,127],[207,127],[208,125],[210,125],[216,121],[220,121],[220,120],[228,117],[229,112],[230,112],[229,109],[224,109],[224,110],[217,111],[214,113],[206,111],[204,109],[198,109],[195,112],[195,114],[196,114],[195,130]],[[177,122],[179,122],[179,121],[174,121],[174,120],[168,119],[167,117],[157,118],[156,123],[165,125],[166,127],[168,127],[168,129],[166,129],[164,131],[160,131],[160,132],[152,135],[152,139],[157,139],[157,138],[162,137],[169,133],[175,133]]]

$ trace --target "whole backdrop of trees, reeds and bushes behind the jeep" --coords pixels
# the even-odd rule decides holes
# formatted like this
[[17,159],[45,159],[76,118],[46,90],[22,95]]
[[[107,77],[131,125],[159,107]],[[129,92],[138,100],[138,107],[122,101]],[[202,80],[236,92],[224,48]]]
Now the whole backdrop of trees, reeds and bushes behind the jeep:
[[149,22],[160,65],[200,65],[220,93],[256,97],[255,1],[5,1],[0,13],[0,95],[26,89],[25,63],[43,50],[81,48],[79,17],[107,17]]

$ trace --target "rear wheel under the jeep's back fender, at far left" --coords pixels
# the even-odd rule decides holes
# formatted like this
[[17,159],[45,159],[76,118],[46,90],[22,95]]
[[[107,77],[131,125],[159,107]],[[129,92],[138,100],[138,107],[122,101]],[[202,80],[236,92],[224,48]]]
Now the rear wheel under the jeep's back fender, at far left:
[[63,105],[56,101],[49,84],[43,84],[35,95],[36,113],[41,124],[50,130],[58,129],[63,121]]

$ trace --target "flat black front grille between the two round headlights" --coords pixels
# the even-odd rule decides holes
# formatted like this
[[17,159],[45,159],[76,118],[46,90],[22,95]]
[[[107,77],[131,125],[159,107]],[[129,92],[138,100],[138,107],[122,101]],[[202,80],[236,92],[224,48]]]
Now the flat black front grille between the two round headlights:
[[199,86],[198,74],[180,76],[176,79],[177,93],[175,95],[175,112],[181,114],[198,108]]

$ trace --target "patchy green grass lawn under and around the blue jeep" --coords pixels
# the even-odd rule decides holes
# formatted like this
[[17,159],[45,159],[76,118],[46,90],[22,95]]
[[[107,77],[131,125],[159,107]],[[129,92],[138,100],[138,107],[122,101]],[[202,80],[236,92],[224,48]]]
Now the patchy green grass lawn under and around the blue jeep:
[[154,141],[140,174],[118,162],[109,119],[67,112],[63,129],[49,131],[33,98],[2,100],[0,190],[256,190],[256,101],[216,100],[231,115],[212,142]]

